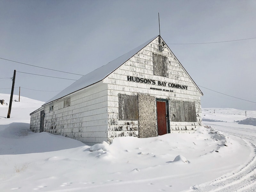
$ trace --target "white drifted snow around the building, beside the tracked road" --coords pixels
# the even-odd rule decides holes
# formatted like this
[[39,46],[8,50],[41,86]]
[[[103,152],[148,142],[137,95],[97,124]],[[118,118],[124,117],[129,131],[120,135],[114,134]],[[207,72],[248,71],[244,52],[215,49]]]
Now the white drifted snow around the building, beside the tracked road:
[[[9,95],[0,94],[3,97],[8,102]],[[0,105],[0,191],[209,191],[204,189],[233,179],[254,163],[249,140],[224,134],[212,125],[192,134],[121,137],[110,145],[94,146],[46,132],[33,133],[29,113],[44,102],[21,98],[12,103],[10,119],[5,118],[8,106]],[[246,129],[253,132],[253,126],[234,122],[244,119],[242,114],[219,112],[218,116],[209,111],[203,114],[237,129],[250,126]],[[239,130],[235,134],[239,136]]]

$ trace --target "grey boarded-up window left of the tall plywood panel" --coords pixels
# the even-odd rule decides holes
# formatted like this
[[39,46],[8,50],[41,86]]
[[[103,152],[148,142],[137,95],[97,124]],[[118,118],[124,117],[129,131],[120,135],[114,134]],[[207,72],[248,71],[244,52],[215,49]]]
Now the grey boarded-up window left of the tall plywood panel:
[[118,95],[118,119],[125,121],[136,121],[138,115],[138,96]]

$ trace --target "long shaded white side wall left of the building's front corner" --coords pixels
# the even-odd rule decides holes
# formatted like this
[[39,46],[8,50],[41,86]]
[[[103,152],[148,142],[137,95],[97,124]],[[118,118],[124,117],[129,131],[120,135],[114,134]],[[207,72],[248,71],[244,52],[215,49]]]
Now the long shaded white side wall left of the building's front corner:
[[[52,105],[53,110],[49,111]],[[107,105],[107,84],[93,84],[44,106],[44,131],[88,144],[108,141]]]

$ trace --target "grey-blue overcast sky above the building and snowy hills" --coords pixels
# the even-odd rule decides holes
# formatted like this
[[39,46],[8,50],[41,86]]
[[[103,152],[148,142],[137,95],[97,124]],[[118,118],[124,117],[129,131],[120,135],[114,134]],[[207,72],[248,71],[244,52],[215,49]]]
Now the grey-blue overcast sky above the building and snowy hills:
[[[0,0],[0,58],[85,75],[157,36],[158,12],[162,38],[197,85],[256,102],[256,39],[186,44],[256,37],[255,0]],[[81,77],[0,59],[0,78],[14,69]],[[16,73],[15,87],[60,91],[73,82]],[[10,79],[0,79],[1,93],[11,87]],[[203,87],[202,108],[256,110],[255,103]],[[58,93],[24,88],[21,96],[42,101]]]

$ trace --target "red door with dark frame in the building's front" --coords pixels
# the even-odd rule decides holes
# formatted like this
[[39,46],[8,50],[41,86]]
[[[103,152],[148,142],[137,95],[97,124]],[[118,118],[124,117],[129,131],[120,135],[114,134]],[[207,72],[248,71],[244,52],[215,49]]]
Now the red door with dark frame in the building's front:
[[156,101],[158,135],[167,134],[166,101]]

